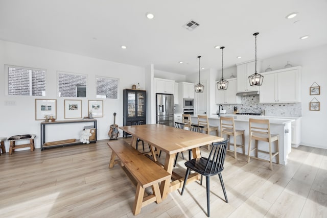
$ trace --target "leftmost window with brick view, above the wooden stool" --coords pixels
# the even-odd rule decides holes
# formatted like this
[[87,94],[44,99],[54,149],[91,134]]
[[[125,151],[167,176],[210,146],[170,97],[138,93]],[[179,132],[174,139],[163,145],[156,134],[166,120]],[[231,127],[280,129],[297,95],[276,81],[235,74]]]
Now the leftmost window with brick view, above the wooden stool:
[[[5,65],[8,95],[45,96],[45,70]],[[8,92],[7,92],[8,91]]]

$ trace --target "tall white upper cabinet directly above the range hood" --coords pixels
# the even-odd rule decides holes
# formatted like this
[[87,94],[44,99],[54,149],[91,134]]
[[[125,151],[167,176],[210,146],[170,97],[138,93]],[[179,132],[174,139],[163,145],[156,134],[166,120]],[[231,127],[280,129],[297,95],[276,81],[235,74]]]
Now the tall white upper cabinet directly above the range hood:
[[[260,74],[261,61],[256,61],[256,71]],[[259,86],[250,86],[249,76],[254,74],[255,61],[237,65],[237,92],[259,91]]]

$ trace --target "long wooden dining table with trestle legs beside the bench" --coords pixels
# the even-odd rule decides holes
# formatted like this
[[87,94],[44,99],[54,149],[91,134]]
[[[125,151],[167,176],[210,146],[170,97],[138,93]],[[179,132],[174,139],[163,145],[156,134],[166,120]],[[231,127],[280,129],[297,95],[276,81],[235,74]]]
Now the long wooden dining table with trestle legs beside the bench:
[[[168,194],[181,188],[184,175],[180,176],[173,172],[175,156],[178,152],[192,149],[193,158],[200,157],[200,147],[212,142],[222,141],[222,137],[192,132],[189,130],[177,129],[160,124],[147,124],[137,126],[120,127],[123,131],[132,135],[131,146],[136,148],[137,138],[149,143],[152,159],[157,161],[156,151],[166,153],[164,168],[171,174],[171,178],[161,182],[160,192],[162,199],[166,199]],[[198,180],[199,175],[194,173],[189,176],[188,183]]]

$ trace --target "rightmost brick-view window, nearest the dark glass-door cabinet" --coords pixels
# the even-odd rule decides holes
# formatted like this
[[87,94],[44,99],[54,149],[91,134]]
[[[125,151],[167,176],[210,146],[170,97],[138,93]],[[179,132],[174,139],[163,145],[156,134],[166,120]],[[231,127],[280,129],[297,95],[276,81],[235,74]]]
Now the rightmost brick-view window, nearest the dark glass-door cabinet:
[[97,98],[118,99],[118,81],[116,78],[97,77]]

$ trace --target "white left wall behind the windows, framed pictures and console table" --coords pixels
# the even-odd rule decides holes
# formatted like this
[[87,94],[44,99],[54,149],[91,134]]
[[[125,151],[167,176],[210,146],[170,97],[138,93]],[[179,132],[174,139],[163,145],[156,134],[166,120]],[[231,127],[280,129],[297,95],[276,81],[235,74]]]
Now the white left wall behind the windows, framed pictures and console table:
[[[4,64],[46,69],[46,96],[13,96],[5,95]],[[68,54],[39,47],[0,41],[0,111],[2,125],[0,135],[10,137],[20,134],[36,134],[35,147],[40,148],[40,120],[35,120],[35,99],[57,99],[57,119],[64,119],[64,99],[81,99],[82,116],[87,116],[88,100],[96,99],[96,76],[119,79],[119,99],[104,99],[104,117],[98,117],[98,139],[108,139],[108,131],[113,124],[113,113],[116,112],[116,124],[123,125],[123,89],[131,88],[138,82],[145,89],[145,68],[110,61]],[[88,75],[87,98],[57,97],[57,70]],[[5,101],[14,101],[15,106],[4,106]],[[47,140],[78,138],[80,127],[56,125],[60,133],[52,132]],[[86,125],[82,125],[86,126]],[[65,131],[66,130],[66,131]],[[50,131],[50,130],[49,130]],[[50,134],[50,133],[49,133]],[[122,136],[122,133],[120,134]],[[6,142],[8,151],[9,143]]]

